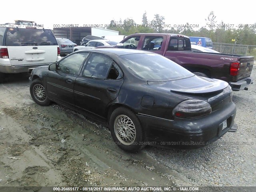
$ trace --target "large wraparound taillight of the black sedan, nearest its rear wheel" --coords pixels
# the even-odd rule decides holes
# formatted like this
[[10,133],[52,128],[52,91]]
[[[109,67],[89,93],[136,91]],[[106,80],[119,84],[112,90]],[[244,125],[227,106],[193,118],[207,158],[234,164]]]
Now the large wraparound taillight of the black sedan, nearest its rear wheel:
[[212,112],[210,104],[204,100],[189,99],[180,102],[172,111],[172,114],[181,118],[197,118]]

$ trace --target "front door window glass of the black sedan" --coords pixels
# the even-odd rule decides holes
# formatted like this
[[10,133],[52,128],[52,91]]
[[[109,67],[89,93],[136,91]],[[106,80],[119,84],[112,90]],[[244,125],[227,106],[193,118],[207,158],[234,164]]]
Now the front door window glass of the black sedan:
[[58,63],[57,72],[78,75],[79,69],[84,64],[89,53],[75,53]]

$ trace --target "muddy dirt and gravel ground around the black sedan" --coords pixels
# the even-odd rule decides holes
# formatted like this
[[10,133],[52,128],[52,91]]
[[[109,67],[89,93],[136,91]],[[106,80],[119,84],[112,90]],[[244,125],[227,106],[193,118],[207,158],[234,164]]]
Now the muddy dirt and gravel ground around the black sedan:
[[[235,103],[243,110],[246,105],[255,107],[244,100],[250,93],[250,102],[255,102],[255,90],[254,84],[251,91],[234,93]],[[239,108],[238,114],[236,122],[249,122]],[[252,127],[239,125],[240,130],[253,129],[255,108],[249,123]],[[251,180],[245,178],[238,186],[250,186],[256,184],[256,145],[223,144],[223,140],[240,139],[240,133],[227,133],[222,141],[198,150],[146,147],[127,153],[114,144],[104,124],[57,104],[35,104],[28,75],[16,74],[0,84],[0,186],[236,186],[225,178],[243,180],[237,180],[232,168],[226,171],[230,162],[225,158],[243,151],[252,164],[239,166],[248,170]],[[256,141],[255,127],[251,133],[248,138]]]

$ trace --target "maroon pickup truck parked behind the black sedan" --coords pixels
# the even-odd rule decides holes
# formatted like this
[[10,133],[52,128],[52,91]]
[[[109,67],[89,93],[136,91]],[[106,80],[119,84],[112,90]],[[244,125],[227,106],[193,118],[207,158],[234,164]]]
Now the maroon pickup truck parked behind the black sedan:
[[[100,46],[98,48],[110,48]],[[232,90],[248,90],[253,56],[191,51],[190,39],[180,34],[132,34],[111,48],[148,50],[169,58],[199,76],[224,80]]]

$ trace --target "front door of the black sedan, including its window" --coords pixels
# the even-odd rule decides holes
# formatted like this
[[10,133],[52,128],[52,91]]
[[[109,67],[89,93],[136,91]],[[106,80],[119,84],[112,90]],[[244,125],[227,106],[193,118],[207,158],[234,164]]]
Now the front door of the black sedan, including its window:
[[60,60],[55,71],[46,76],[48,96],[63,104],[74,105],[74,81],[89,53],[76,52]]

